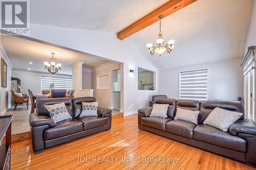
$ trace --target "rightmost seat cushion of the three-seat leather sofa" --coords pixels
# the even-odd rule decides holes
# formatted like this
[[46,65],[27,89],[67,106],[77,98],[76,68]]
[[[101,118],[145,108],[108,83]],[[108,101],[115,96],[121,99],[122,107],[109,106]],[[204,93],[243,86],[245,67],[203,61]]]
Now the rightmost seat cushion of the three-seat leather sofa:
[[193,132],[193,138],[234,151],[246,152],[245,139],[230,135],[228,132],[208,125],[201,124],[196,126]]

